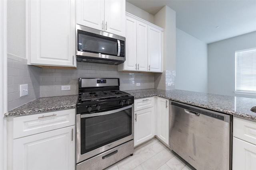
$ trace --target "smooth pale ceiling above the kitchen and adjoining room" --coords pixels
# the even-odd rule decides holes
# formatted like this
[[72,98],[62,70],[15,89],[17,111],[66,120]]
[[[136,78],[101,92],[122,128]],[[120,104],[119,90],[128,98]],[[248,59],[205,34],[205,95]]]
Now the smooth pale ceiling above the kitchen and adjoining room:
[[256,31],[256,0],[126,0],[155,15],[163,6],[176,11],[176,27],[212,43]]

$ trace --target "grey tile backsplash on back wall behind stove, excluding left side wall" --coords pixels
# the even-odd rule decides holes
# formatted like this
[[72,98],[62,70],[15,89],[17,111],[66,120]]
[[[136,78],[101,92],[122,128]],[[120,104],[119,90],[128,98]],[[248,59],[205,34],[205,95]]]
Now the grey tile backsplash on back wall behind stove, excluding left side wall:
[[[78,78],[120,78],[120,90],[154,88],[154,73],[118,72],[116,65],[77,63],[77,69],[42,68],[40,97],[78,94]],[[140,86],[136,86],[136,83]],[[61,91],[61,86],[70,90]]]

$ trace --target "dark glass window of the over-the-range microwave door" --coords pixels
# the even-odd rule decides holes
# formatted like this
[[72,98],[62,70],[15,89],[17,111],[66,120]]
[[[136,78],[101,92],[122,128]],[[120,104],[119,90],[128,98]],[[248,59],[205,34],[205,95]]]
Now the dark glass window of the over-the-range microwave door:
[[78,51],[117,56],[116,39],[78,30]]

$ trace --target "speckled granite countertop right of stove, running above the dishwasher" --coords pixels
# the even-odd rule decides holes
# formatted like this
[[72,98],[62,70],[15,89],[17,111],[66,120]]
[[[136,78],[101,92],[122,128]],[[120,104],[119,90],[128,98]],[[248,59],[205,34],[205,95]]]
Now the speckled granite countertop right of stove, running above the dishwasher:
[[169,100],[174,100],[213,111],[231,114],[236,117],[248,119],[251,121],[256,121],[256,113],[250,111],[253,106],[256,106],[256,99],[252,98],[223,96],[218,94],[190,92],[185,90],[145,89],[128,90],[125,92],[133,95],[135,99],[159,96]]

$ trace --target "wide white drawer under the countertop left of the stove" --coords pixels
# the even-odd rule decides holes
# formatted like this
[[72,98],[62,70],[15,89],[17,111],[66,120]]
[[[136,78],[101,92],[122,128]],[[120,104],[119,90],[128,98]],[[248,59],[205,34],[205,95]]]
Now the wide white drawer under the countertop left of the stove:
[[76,109],[13,118],[13,139],[75,125]]

